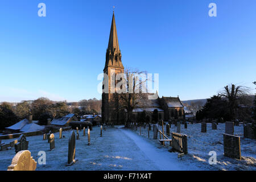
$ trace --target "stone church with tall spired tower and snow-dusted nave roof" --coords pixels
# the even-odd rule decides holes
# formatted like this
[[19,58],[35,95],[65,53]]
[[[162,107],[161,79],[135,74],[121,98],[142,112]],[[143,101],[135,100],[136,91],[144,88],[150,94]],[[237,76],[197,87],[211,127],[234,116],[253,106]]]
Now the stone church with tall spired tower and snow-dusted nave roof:
[[[107,81],[108,93],[102,92],[102,122],[114,122],[119,124],[125,123],[127,120],[127,113],[125,109],[118,110],[120,104],[118,93],[110,92],[110,73],[124,73],[114,13],[109,35],[109,44],[106,49],[104,73],[108,75],[109,80]],[[115,82],[115,84],[117,83]],[[102,89],[106,90],[104,86],[106,85],[103,85]],[[138,118],[140,113],[146,113],[146,122],[152,122],[152,113],[154,110],[158,110],[159,120],[163,119],[164,121],[168,121],[168,119],[184,118],[184,106],[179,97],[158,97],[156,100],[146,100],[143,104],[138,104],[138,106],[133,110],[131,120],[139,122]]]

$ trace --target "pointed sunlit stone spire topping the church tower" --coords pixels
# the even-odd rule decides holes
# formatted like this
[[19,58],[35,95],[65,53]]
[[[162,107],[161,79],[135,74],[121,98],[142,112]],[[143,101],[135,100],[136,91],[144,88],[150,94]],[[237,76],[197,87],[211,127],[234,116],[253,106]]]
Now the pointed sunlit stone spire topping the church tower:
[[122,64],[122,55],[119,49],[118,38],[117,38],[117,27],[115,26],[115,15],[113,11],[112,24],[109,35],[109,45],[106,51],[106,63],[105,68],[121,68],[123,69]]

